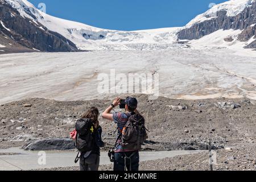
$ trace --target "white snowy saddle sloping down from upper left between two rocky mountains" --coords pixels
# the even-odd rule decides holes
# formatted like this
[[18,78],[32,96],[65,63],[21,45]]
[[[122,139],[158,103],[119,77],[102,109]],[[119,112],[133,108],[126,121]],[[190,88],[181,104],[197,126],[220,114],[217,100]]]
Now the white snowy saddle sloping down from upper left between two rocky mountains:
[[26,0],[5,0],[21,15],[39,22],[48,30],[58,32],[79,49],[162,49],[174,48],[180,28],[146,31],[115,31],[56,18],[39,11]]

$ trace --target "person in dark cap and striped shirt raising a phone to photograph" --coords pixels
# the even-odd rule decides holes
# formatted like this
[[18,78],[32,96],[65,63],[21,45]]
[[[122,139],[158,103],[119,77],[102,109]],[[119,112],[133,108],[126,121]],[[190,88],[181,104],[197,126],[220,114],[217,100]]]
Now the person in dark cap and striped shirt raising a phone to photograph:
[[125,100],[125,112],[110,112],[120,105],[121,98],[115,98],[102,117],[117,124],[118,134],[114,146],[114,171],[138,171],[139,150],[147,139],[144,118],[137,110],[138,101],[134,97]]

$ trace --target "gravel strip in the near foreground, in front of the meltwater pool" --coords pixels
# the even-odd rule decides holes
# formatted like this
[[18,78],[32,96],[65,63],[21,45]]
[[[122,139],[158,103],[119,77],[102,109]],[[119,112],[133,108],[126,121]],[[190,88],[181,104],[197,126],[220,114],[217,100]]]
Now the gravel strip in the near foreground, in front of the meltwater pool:
[[[217,163],[214,171],[256,171],[256,145],[246,145],[232,150],[217,150]],[[209,171],[209,153],[182,155],[174,158],[149,160],[140,163],[144,171]],[[100,171],[112,171],[113,165],[102,165]],[[78,171],[79,167],[41,169],[44,171]]]

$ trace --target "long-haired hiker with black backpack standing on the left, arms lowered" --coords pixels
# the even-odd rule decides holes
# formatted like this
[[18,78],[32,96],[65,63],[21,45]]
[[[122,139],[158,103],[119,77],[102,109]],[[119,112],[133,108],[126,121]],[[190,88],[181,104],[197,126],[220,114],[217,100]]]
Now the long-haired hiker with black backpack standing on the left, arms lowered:
[[[100,147],[104,147],[101,134],[102,128],[99,125],[100,113],[96,107],[90,108],[76,122],[75,145],[80,154],[80,171],[98,171],[100,165]],[[79,154],[75,163],[78,162]]]

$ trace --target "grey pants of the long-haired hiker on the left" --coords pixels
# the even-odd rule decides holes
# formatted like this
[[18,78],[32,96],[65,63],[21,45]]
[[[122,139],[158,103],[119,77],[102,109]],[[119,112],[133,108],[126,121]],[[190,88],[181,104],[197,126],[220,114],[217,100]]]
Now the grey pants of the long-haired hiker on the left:
[[80,171],[98,171],[100,155],[90,154],[87,158],[80,156]]

